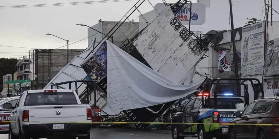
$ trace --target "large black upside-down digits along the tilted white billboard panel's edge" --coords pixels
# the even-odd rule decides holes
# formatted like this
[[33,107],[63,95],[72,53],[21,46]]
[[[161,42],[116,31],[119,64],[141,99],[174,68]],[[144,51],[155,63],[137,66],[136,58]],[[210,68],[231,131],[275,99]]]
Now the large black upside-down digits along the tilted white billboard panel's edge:
[[[179,29],[183,27],[177,17],[174,17],[170,20],[170,25],[174,27],[175,31],[179,31]],[[182,41],[187,42],[191,38],[191,35],[187,33],[185,28],[182,28],[179,32],[179,37],[182,38]],[[199,56],[202,54],[201,49],[193,39],[187,44],[187,46],[189,49],[191,49],[191,52],[194,53],[194,56]]]

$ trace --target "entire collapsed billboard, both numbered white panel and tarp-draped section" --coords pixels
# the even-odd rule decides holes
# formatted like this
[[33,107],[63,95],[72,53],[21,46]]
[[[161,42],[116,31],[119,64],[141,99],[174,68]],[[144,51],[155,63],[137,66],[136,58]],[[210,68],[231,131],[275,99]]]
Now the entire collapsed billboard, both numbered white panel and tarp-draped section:
[[[122,111],[134,122],[154,121],[175,101],[197,91],[200,83],[189,84],[203,52],[170,6],[133,44],[154,71],[107,40],[80,65],[97,83],[107,81],[103,90],[113,113]],[[146,113],[144,118],[142,113]],[[135,126],[142,129],[148,125]]]

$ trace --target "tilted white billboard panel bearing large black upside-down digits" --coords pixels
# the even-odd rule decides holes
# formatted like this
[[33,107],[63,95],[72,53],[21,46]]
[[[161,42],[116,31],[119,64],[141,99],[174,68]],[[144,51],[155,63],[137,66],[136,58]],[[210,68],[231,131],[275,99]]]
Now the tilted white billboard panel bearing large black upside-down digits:
[[134,46],[152,69],[175,84],[190,84],[203,52],[167,6],[135,39]]

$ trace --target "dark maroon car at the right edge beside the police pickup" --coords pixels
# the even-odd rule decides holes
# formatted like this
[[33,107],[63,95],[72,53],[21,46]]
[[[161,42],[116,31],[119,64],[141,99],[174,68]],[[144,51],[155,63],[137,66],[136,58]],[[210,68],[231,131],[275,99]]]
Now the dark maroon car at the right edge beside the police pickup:
[[[259,98],[250,103],[242,113],[234,113],[237,118],[232,120],[228,128],[229,139],[257,138],[278,139],[279,138],[279,97]],[[244,125],[240,125],[244,124]],[[247,125],[245,125],[247,124]],[[251,124],[251,125],[248,125]],[[259,124],[259,125],[257,125]],[[262,126],[260,124],[274,124]],[[276,126],[277,125],[277,126]]]

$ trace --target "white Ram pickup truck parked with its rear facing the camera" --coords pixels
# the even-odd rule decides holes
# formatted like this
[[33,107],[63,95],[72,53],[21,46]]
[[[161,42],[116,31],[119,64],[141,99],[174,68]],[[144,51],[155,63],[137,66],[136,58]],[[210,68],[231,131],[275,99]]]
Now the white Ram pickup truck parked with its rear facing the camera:
[[9,139],[89,139],[92,111],[73,90],[24,91],[10,114]]

